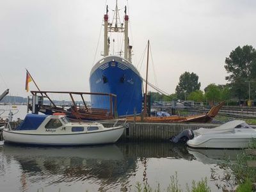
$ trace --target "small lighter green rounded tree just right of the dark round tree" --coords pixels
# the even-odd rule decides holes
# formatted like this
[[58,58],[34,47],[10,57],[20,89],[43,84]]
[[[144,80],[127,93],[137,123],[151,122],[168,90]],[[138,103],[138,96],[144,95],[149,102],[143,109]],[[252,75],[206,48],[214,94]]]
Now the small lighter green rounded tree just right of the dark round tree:
[[212,106],[214,103],[221,100],[220,87],[216,84],[209,84],[205,89],[205,98],[208,100],[209,104]]

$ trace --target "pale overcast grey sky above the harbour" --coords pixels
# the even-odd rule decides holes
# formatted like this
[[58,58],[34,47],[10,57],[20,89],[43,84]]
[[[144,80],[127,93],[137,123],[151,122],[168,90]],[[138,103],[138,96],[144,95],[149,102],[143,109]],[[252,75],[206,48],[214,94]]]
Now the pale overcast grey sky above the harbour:
[[[110,17],[115,0],[0,0],[0,92],[28,96],[26,68],[41,90],[90,92],[106,4]],[[254,0],[119,0],[121,15],[125,4],[132,63],[145,77],[141,58],[150,40],[148,78],[167,93],[186,71],[199,76],[201,90],[227,83],[225,58],[237,46],[256,47]]]

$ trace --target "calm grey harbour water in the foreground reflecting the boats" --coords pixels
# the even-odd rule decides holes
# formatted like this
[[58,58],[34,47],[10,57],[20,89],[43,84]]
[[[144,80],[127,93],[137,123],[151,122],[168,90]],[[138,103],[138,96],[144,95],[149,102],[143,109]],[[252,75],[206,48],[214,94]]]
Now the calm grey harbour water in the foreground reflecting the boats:
[[[26,106],[21,108],[26,113]],[[222,191],[217,186],[230,183],[222,179],[224,170],[217,164],[236,159],[237,153],[191,150],[171,143],[69,148],[4,145],[0,147],[0,191],[136,191],[136,182],[153,188],[159,183],[163,189],[175,172],[183,189],[186,183],[207,177],[212,191]]]

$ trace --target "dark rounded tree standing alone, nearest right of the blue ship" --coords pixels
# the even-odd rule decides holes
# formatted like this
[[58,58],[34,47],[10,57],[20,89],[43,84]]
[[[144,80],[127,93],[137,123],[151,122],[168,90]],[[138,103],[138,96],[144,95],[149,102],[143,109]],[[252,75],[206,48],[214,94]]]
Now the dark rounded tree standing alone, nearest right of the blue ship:
[[175,91],[179,99],[185,100],[189,93],[200,90],[200,86],[201,83],[198,83],[198,76],[196,74],[184,72],[184,74],[180,75],[180,81]]

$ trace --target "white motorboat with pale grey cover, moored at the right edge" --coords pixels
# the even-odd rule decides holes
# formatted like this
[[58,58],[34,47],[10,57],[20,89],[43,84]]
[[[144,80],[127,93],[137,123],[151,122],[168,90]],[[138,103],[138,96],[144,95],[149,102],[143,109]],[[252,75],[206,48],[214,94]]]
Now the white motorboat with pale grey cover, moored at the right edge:
[[212,129],[196,129],[193,133],[195,137],[187,141],[193,148],[248,148],[256,138],[256,130],[243,120],[227,122]]

